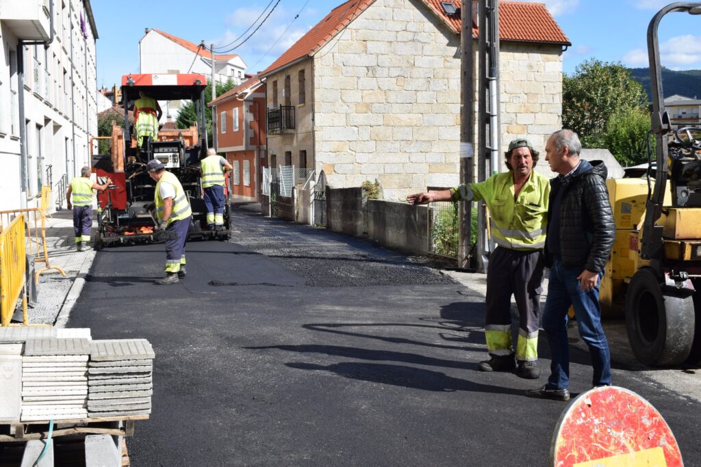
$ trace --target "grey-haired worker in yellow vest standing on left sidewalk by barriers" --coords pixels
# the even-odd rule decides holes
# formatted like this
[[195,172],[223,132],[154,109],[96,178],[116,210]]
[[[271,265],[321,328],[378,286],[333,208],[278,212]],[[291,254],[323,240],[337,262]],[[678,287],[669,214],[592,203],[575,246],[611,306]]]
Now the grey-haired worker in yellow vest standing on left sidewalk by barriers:
[[104,185],[90,180],[90,167],[86,166],[81,168],[81,176],[74,177],[68,186],[66,204],[68,209],[73,209],[73,230],[78,251],[90,249],[88,244],[90,228],[93,227],[93,190],[107,190],[111,183],[109,178]]

